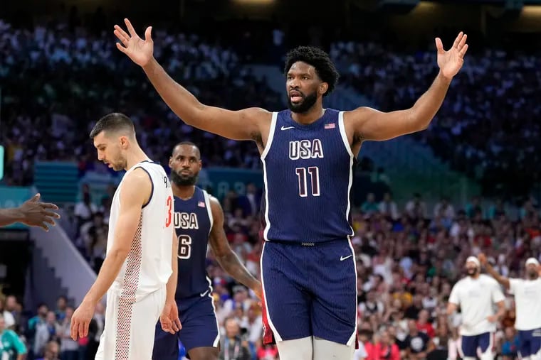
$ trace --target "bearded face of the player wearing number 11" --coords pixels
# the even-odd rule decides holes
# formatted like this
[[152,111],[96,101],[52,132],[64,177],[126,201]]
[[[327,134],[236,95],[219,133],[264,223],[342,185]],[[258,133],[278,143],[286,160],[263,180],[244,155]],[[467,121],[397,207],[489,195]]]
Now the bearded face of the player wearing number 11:
[[295,62],[285,80],[288,94],[288,108],[298,114],[312,109],[317,101],[317,90],[322,82],[315,72],[315,67],[306,62]]

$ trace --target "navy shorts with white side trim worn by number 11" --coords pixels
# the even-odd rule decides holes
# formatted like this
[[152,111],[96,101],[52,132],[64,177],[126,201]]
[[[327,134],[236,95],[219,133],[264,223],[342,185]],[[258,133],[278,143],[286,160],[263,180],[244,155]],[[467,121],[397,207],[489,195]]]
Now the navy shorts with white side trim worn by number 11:
[[264,327],[278,342],[319,337],[355,344],[357,270],[350,241],[303,244],[263,244]]

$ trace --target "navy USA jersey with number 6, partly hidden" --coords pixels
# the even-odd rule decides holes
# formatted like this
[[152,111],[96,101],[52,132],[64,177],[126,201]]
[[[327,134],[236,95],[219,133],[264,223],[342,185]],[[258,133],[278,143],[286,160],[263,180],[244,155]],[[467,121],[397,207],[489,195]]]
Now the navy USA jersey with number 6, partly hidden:
[[179,239],[179,280],[177,300],[206,295],[210,280],[206,276],[206,249],[212,229],[209,194],[195,187],[189,200],[174,197],[174,228]]

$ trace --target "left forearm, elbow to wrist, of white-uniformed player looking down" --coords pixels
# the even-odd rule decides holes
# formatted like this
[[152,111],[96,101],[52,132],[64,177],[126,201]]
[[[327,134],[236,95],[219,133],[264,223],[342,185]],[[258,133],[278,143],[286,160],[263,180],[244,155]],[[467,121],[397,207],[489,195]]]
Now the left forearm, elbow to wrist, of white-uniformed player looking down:
[[103,295],[107,293],[107,290],[111,287],[113,281],[115,281],[126,258],[127,253],[125,251],[112,249],[110,253],[107,253],[101,266],[100,273],[98,273],[98,278],[95,280],[95,283],[90,290],[88,290],[83,301],[97,304],[101,298],[103,298]]

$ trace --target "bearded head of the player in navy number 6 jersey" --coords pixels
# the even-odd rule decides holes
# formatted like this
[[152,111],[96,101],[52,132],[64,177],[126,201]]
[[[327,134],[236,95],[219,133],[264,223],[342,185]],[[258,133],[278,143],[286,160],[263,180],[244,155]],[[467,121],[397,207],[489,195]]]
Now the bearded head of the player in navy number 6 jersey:
[[195,146],[179,145],[169,158],[171,181],[179,186],[195,185],[201,170],[201,156]]

